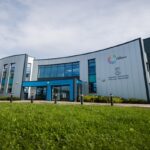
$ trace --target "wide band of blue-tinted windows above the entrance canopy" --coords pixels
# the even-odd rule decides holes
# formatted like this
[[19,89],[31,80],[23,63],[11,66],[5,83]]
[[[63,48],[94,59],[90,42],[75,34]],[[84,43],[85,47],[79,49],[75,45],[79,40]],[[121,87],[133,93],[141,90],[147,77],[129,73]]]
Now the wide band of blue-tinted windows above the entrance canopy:
[[79,62],[39,66],[38,78],[79,76]]

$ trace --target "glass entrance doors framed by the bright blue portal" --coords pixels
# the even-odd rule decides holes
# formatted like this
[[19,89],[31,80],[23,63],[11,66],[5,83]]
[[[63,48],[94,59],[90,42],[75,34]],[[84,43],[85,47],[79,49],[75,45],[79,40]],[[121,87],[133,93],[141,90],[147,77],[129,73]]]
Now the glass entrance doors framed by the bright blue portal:
[[53,86],[52,87],[52,99],[58,101],[68,101],[70,99],[69,86]]

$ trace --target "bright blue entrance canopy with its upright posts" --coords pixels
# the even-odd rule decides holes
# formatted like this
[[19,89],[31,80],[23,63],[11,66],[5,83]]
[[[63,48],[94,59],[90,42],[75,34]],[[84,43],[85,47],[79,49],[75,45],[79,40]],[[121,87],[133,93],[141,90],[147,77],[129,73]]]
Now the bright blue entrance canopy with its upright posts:
[[47,100],[52,100],[53,93],[52,89],[53,87],[56,86],[68,86],[69,87],[69,100],[73,101],[75,99],[75,86],[73,79],[66,79],[66,80],[51,80],[51,81],[24,81],[22,86],[23,87],[47,87],[47,92],[46,92],[46,99]]

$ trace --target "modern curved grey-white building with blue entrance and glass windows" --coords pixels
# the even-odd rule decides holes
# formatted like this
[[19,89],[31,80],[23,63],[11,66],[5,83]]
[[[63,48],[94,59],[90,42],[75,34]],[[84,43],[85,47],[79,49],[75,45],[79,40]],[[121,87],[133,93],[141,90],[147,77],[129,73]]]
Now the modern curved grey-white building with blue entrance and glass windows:
[[[49,59],[27,54],[0,59],[0,95],[76,101],[95,94],[150,101],[150,39]],[[145,53],[145,50],[147,54]],[[148,59],[147,59],[148,56]]]

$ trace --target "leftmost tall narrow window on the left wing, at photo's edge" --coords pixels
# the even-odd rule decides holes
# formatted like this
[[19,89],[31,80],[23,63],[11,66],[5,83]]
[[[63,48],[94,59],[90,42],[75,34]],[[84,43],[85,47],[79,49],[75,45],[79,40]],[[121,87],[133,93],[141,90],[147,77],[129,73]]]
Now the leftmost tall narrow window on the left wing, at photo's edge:
[[3,68],[3,75],[2,75],[2,80],[1,80],[1,93],[4,92],[4,87],[6,84],[7,71],[8,71],[8,64],[5,64],[4,68]]

